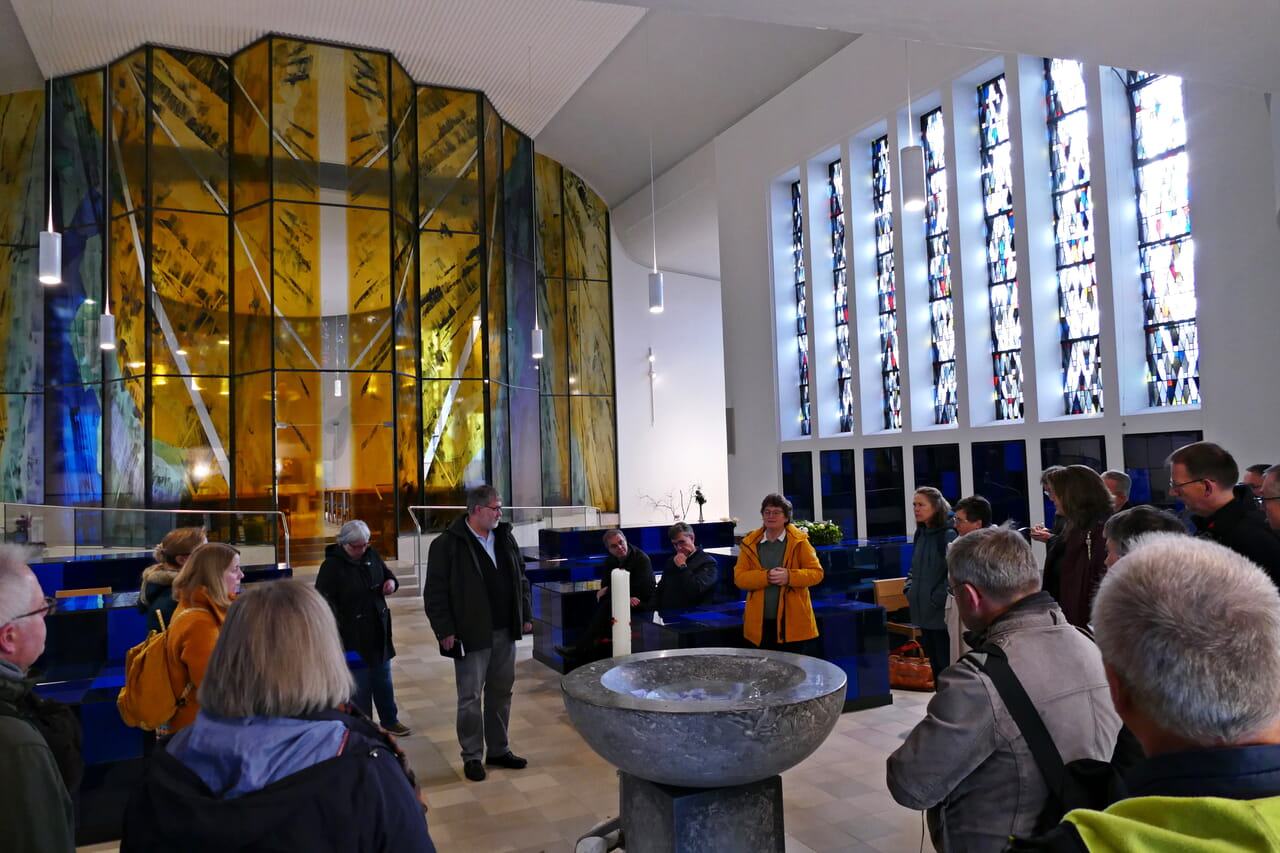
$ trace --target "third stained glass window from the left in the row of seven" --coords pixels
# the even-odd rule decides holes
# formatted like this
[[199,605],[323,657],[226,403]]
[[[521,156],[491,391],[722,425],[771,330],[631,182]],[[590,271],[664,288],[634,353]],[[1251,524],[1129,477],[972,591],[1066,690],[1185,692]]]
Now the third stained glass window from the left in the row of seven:
[[884,429],[902,429],[897,369],[897,282],[893,272],[893,186],[888,136],[872,142],[872,214],[876,216],[876,298],[881,333]]

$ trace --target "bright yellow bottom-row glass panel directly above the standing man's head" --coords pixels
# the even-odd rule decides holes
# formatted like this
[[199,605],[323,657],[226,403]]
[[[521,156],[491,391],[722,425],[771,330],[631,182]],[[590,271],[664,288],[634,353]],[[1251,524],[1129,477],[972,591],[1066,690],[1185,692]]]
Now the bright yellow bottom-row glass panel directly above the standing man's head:
[[[422,457],[428,503],[457,501],[485,478],[484,382],[422,383]],[[442,501],[439,498],[447,498]]]

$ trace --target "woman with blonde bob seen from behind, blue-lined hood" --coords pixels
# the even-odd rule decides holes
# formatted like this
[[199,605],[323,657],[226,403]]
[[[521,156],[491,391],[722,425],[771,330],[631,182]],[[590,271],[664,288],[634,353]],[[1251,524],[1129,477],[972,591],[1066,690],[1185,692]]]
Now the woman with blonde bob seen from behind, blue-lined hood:
[[120,850],[431,853],[403,753],[353,706],[339,707],[352,688],[315,589],[278,580],[239,597],[201,711],[152,757]]

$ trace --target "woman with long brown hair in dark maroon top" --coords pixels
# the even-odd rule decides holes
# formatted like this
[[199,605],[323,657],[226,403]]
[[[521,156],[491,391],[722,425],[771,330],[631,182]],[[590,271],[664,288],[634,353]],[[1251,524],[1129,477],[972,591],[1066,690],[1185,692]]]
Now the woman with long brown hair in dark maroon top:
[[1088,628],[1093,593],[1107,571],[1106,521],[1111,517],[1111,492],[1102,476],[1087,465],[1068,465],[1048,475],[1057,514],[1066,519],[1044,557],[1044,592],[1062,606],[1066,620]]

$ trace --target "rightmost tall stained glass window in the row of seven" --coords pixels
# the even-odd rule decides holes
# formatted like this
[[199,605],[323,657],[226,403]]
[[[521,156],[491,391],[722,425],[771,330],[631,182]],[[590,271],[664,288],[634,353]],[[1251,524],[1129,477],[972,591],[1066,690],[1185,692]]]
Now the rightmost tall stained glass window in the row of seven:
[[1138,263],[1152,406],[1199,403],[1196,245],[1187,177],[1183,81],[1129,72],[1138,193]]

